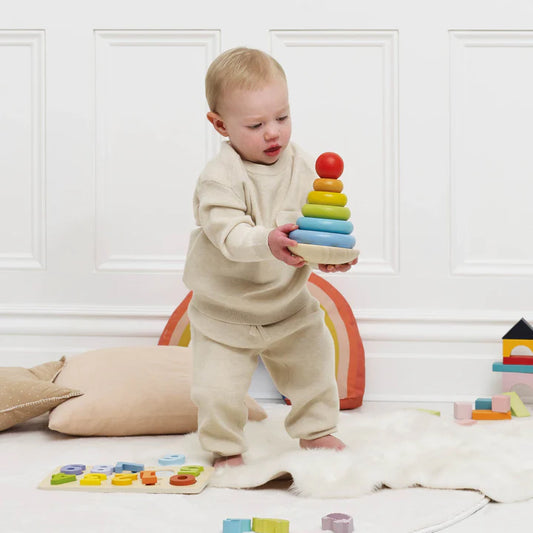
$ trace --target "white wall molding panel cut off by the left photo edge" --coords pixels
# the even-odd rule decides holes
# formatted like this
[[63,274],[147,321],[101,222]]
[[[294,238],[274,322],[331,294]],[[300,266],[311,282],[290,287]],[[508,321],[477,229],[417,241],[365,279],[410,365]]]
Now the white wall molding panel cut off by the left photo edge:
[[0,69],[0,224],[10,228],[0,233],[0,270],[43,270],[44,30],[0,30]]

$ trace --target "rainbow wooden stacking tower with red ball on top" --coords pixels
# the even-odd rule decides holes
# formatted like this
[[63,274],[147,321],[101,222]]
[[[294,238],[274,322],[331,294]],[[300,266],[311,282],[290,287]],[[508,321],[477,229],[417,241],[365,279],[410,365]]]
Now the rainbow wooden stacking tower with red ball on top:
[[338,179],[344,163],[338,154],[325,152],[318,156],[315,169],[319,178],[302,207],[303,216],[296,221],[298,229],[289,233],[298,245],[289,249],[308,263],[349,263],[359,255],[359,250],[354,248],[353,224],[348,220],[350,210],[346,207],[348,198],[342,194],[344,185]]

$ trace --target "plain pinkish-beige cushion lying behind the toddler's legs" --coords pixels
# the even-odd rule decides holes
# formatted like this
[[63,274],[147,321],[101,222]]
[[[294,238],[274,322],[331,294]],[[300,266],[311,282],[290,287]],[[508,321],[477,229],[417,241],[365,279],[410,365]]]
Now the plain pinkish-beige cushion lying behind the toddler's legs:
[[[191,349],[106,348],[67,359],[55,383],[81,390],[50,413],[48,427],[70,435],[159,435],[197,429],[190,399]],[[251,420],[266,417],[247,397]]]

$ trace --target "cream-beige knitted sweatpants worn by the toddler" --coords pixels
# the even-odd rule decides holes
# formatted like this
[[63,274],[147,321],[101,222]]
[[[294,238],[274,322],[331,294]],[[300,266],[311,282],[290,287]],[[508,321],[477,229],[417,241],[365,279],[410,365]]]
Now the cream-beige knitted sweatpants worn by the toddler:
[[205,450],[229,456],[247,449],[244,398],[259,356],[278,390],[291,400],[285,420],[291,437],[314,439],[336,431],[334,346],[316,300],[267,326],[220,322],[192,305],[188,314],[194,353],[191,397]]

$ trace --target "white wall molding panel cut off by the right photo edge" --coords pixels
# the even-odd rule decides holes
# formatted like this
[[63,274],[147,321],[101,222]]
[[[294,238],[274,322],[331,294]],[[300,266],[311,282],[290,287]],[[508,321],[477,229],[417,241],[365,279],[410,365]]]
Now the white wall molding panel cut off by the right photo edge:
[[452,274],[531,276],[533,31],[449,39]]

